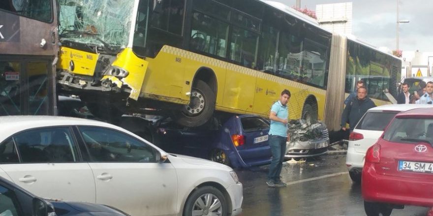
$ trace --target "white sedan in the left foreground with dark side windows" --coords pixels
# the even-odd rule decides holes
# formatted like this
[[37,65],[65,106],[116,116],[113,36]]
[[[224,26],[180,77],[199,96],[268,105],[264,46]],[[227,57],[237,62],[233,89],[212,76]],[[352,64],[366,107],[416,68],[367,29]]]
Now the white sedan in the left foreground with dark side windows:
[[117,126],[56,116],[5,116],[0,126],[0,176],[38,196],[132,216],[242,212],[242,184],[230,167],[169,155]]

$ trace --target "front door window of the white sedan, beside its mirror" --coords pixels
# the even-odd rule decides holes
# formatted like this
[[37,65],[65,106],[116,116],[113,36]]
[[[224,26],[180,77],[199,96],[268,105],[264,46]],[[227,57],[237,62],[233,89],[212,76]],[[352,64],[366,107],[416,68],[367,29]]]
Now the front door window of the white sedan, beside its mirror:
[[78,127],[93,162],[156,162],[155,149],[119,131]]

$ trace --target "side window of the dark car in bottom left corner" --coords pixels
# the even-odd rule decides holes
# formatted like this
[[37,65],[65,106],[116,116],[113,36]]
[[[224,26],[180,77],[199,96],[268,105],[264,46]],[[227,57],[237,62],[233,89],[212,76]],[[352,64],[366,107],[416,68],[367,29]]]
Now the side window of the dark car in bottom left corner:
[[19,213],[14,191],[0,185],[0,216],[20,216]]

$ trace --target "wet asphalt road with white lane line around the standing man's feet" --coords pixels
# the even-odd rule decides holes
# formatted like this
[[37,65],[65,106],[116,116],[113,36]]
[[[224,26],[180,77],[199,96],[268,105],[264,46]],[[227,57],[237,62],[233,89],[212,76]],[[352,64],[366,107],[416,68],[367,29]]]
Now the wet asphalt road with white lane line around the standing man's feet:
[[[244,185],[241,216],[365,216],[361,188],[347,174],[345,154],[284,164],[286,188],[266,185],[268,166],[236,172]],[[426,216],[428,210],[406,206],[392,216]]]

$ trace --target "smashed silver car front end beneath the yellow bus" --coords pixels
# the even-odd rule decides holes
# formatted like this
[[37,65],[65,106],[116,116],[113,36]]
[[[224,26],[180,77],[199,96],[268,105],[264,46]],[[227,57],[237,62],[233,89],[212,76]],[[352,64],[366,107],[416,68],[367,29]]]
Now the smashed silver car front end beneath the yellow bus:
[[317,157],[328,152],[330,140],[323,122],[292,120],[289,122],[288,133],[290,141],[286,143],[287,159]]

